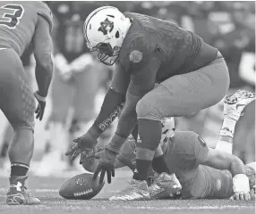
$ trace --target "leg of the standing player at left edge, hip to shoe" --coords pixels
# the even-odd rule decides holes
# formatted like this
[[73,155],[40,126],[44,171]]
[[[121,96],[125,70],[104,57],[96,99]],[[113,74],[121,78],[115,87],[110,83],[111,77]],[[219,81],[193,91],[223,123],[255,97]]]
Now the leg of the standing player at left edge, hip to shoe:
[[8,151],[11,177],[6,202],[10,205],[39,203],[24,186],[34,149],[34,95],[18,54],[13,49],[1,50],[0,60],[0,107],[14,130]]

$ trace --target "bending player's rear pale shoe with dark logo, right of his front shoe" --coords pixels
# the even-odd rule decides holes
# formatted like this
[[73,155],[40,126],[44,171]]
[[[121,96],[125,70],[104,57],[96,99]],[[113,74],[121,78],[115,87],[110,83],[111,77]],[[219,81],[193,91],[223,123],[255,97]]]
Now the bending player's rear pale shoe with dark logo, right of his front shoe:
[[164,172],[154,179],[154,183],[149,186],[149,193],[151,199],[157,200],[180,194],[181,189],[182,185],[175,174],[170,176]]

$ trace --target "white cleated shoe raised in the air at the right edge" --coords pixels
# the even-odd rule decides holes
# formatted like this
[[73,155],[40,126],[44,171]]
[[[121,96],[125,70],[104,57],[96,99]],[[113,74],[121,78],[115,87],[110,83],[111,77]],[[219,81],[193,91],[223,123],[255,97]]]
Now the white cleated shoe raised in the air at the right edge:
[[255,100],[255,93],[246,90],[237,90],[234,95],[226,96],[224,100],[224,117],[238,120],[243,116],[246,105]]

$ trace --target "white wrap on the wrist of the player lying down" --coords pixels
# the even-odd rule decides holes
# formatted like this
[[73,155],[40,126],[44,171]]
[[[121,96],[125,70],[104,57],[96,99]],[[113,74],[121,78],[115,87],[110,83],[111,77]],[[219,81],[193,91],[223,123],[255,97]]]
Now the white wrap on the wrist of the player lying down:
[[237,174],[233,177],[233,190],[234,193],[250,192],[249,178],[244,174]]

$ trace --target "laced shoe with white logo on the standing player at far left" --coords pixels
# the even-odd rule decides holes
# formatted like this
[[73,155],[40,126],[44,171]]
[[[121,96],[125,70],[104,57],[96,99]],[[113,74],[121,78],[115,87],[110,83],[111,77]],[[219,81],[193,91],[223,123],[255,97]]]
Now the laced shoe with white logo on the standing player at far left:
[[10,189],[6,196],[7,205],[39,204],[40,200],[33,197],[24,186],[27,177],[10,177]]

